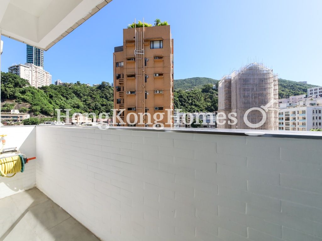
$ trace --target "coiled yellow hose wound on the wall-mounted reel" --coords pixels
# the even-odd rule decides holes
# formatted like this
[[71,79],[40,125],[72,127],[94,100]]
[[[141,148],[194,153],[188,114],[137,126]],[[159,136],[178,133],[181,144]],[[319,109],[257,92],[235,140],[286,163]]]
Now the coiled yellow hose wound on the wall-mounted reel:
[[[13,177],[18,172],[24,172],[23,155],[8,156],[0,159],[0,176]],[[7,174],[13,174],[8,176]]]

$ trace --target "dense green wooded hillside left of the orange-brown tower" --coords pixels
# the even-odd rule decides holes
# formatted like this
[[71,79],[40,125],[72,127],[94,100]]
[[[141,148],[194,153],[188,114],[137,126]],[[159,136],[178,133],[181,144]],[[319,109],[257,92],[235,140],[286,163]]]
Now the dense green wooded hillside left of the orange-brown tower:
[[28,106],[25,111],[36,116],[55,116],[55,109],[72,109],[71,114],[109,113],[113,108],[113,87],[107,82],[102,82],[97,87],[77,82],[36,89],[17,75],[1,72],[1,102],[6,102],[4,105],[7,108],[25,103]]

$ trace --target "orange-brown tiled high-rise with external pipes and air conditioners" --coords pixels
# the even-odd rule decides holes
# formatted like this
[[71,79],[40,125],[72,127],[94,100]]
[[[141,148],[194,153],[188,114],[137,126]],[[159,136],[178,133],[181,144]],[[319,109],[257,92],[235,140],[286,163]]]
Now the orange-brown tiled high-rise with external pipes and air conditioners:
[[[170,26],[123,30],[123,45],[114,48],[114,108],[125,109],[120,118],[123,126],[152,126],[157,121],[173,126],[173,39]],[[141,124],[131,113],[144,114]],[[148,117],[151,115],[151,123]],[[159,118],[160,114],[156,114]],[[129,116],[127,120],[127,116]],[[121,125],[117,120],[115,125]],[[167,124],[168,123],[168,124]]]

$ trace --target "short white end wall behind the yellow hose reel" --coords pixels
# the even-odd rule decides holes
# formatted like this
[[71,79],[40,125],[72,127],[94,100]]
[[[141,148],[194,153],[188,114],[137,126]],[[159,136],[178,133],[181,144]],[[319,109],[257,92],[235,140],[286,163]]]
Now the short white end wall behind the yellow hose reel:
[[[18,147],[27,157],[36,156],[36,129],[34,126],[1,127],[0,135],[7,135],[5,137],[5,148]],[[0,198],[23,192],[36,186],[36,161],[29,161],[25,165],[24,172],[17,173],[14,177],[0,176]]]

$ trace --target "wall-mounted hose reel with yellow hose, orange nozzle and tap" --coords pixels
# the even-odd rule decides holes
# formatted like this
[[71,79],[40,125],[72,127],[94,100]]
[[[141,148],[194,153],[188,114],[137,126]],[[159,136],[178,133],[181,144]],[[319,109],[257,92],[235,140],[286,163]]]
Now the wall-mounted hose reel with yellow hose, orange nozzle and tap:
[[[5,136],[0,135],[2,147],[0,149],[0,176],[13,177],[18,172],[24,172],[24,166],[29,160],[36,159],[36,157],[27,158],[16,147],[4,148]],[[7,174],[13,174],[8,176]]]

